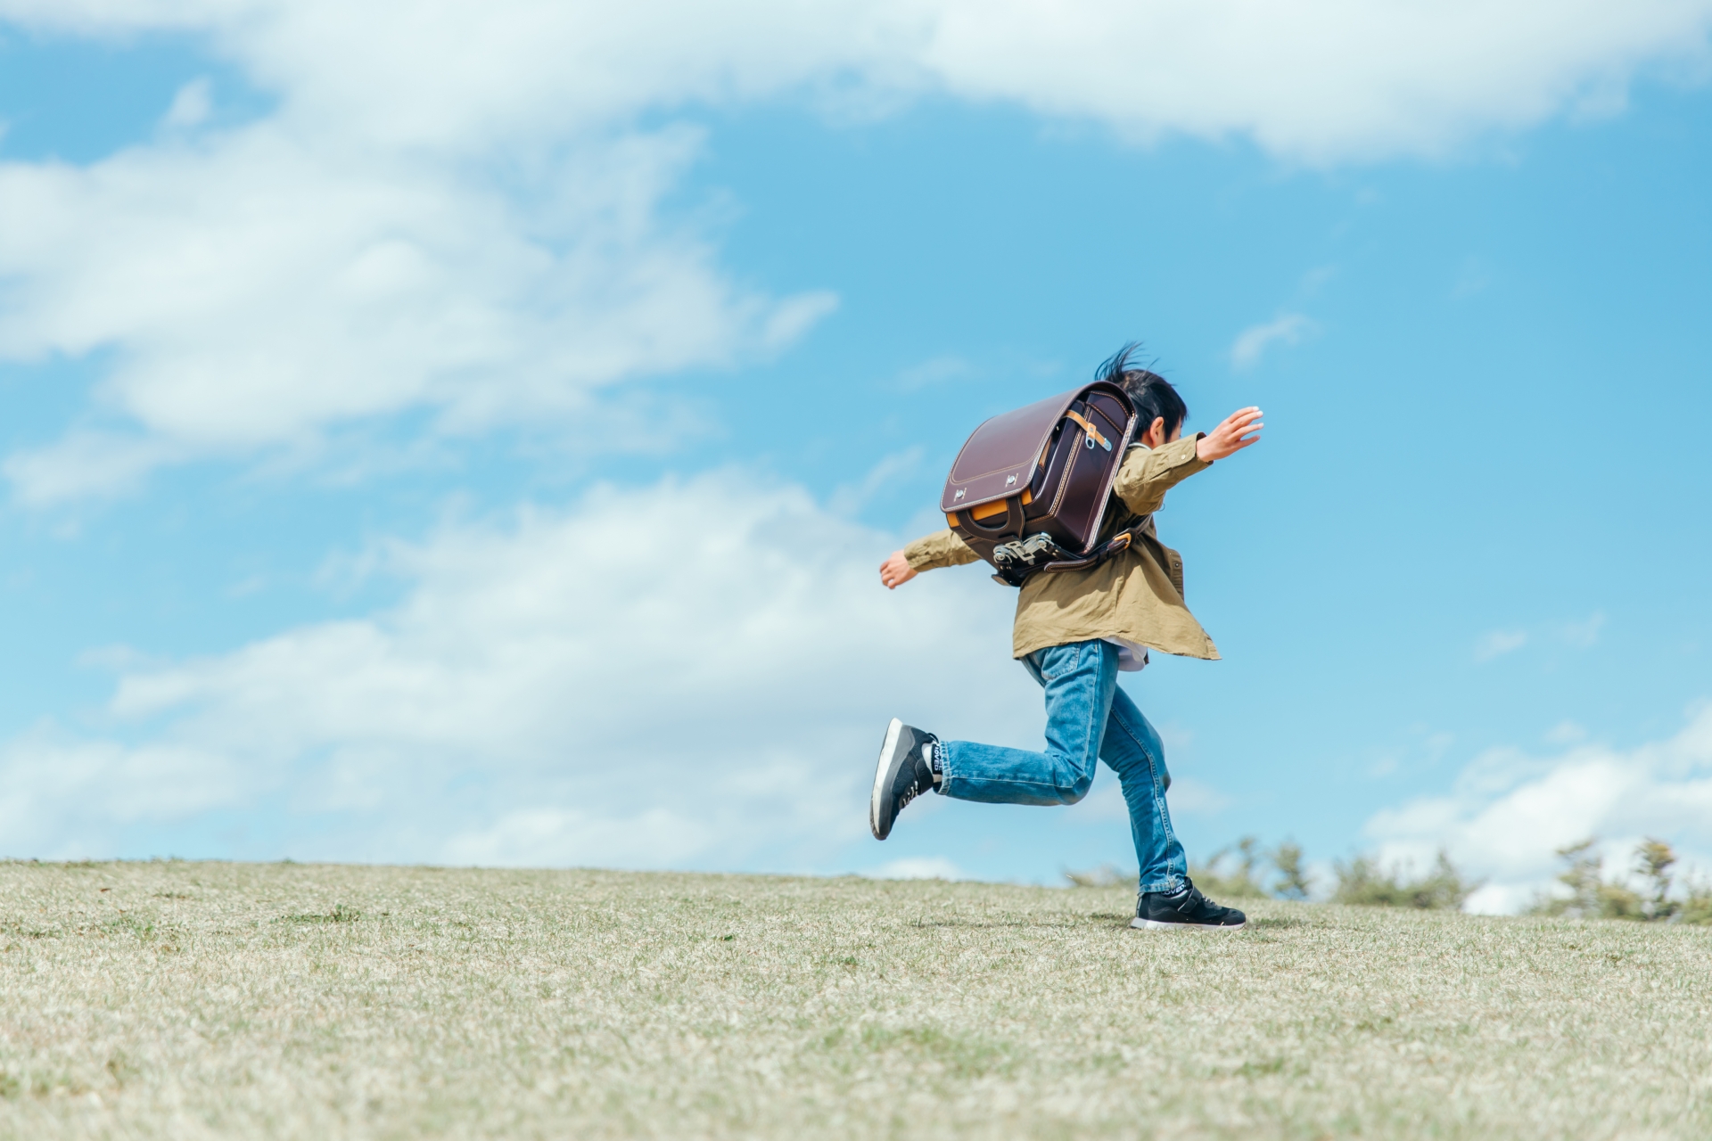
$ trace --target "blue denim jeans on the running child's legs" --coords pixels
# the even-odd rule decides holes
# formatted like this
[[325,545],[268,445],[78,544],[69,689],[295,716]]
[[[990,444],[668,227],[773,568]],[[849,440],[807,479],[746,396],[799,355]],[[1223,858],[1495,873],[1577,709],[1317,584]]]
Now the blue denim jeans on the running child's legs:
[[1046,751],[942,741],[940,792],[983,804],[1075,804],[1104,760],[1130,806],[1142,891],[1176,891],[1188,874],[1166,809],[1166,751],[1135,701],[1118,688],[1118,647],[1072,641],[1022,659],[1046,689]]

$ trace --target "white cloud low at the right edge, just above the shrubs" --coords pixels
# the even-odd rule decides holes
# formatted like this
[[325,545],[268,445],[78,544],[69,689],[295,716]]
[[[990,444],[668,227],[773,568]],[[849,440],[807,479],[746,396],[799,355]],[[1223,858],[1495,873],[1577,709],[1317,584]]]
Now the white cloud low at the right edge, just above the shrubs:
[[1712,705],[1674,737],[1620,751],[1582,744],[1536,758],[1495,749],[1476,758],[1448,795],[1375,814],[1364,835],[1385,860],[1424,866],[1447,848],[1489,884],[1474,910],[1507,912],[1549,890],[1556,848],[1599,837],[1608,867],[1626,869],[1635,843],[1659,837],[1685,864],[1712,871]]

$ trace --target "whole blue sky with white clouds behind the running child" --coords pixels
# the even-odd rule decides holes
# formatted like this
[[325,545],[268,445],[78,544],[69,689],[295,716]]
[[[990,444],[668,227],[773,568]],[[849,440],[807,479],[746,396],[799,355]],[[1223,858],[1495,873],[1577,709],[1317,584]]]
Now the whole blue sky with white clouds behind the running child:
[[1263,29],[1137,17],[1007,89],[1039,31],[959,5],[902,62],[863,5],[558,29],[606,87],[414,24],[363,87],[361,27],[253,7],[0,9],[7,854],[1130,862],[1109,773],[883,847],[861,785],[894,713],[1037,739],[1008,592],[873,568],[1142,339],[1192,428],[1267,411],[1161,517],[1226,660],[1125,683],[1192,857],[1448,847],[1489,908],[1584,835],[1712,857],[1707,10],[1251,89],[1198,75]]

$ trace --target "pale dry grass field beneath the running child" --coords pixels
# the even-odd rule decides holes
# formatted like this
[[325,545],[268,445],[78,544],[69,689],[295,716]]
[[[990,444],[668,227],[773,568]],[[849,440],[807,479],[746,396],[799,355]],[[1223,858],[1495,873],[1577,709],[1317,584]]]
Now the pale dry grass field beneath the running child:
[[1712,1138],[1712,929],[0,864],[7,1138]]

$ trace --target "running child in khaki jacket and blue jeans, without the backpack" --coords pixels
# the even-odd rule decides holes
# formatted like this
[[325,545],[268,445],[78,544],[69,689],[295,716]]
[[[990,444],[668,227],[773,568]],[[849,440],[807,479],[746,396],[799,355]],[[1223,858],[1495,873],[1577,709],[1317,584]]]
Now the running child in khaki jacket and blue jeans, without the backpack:
[[[940,741],[894,718],[868,823],[885,840],[897,813],[930,789],[988,804],[1075,804],[1094,780],[1097,756],[1118,773],[1130,807],[1142,872],[1130,925],[1236,931],[1246,917],[1190,883],[1166,809],[1164,746],[1118,688],[1118,672],[1147,665],[1149,648],[1219,657],[1183,604],[1183,559],[1159,542],[1150,515],[1173,486],[1260,440],[1260,409],[1241,409],[1212,433],[1183,438],[1188,407],[1164,376],[1130,366],[1133,349],[1126,346],[1099,368],[1099,380],[1121,385],[1138,414],[1137,443],[1118,470],[1101,539],[1138,529],[1137,541],[1089,570],[1036,573],[1017,599],[1012,647],[1046,689],[1046,751]],[[895,551],[880,565],[880,582],[895,590],[924,570],[974,561],[962,539],[940,530]]]

